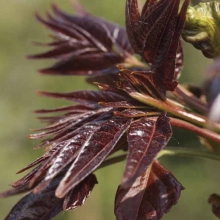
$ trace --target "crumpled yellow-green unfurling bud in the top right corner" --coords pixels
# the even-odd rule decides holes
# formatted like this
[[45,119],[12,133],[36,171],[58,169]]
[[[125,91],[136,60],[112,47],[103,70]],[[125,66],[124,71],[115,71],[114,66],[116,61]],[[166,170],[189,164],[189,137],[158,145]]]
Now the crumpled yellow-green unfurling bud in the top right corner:
[[201,2],[188,7],[182,37],[201,50],[204,56],[220,55],[220,2]]

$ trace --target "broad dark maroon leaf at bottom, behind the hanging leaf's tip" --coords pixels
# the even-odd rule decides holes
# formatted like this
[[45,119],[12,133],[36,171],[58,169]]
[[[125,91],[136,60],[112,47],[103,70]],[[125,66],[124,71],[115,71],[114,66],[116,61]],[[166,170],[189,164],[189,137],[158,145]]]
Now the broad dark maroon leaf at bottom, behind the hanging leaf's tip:
[[176,178],[154,161],[130,188],[119,186],[115,199],[117,220],[160,220],[178,202],[181,190]]

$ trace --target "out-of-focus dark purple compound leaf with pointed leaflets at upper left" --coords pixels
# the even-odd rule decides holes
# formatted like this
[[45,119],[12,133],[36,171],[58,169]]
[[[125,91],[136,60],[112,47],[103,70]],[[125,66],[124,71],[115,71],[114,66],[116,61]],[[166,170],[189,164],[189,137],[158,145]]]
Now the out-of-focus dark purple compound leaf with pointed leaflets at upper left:
[[[54,15],[47,20],[37,19],[55,32],[53,48],[29,58],[56,58],[58,62],[46,69],[45,74],[98,74],[123,63],[133,54],[124,28],[96,18],[88,13],[71,16],[53,7]],[[100,72],[101,71],[101,72]]]

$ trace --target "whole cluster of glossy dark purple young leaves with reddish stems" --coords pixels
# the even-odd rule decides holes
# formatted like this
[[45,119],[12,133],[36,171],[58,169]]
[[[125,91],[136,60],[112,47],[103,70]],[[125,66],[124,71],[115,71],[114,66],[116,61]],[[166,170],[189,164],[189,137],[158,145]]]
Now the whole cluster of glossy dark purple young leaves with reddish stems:
[[[0,195],[30,191],[7,220],[52,219],[83,205],[97,183],[94,172],[125,158],[114,156],[118,151],[126,152],[115,198],[118,220],[159,220],[178,202],[183,187],[158,161],[172,126],[220,143],[215,131],[204,128],[207,104],[177,86],[183,66],[180,38],[189,3],[185,0],[180,9],[180,0],[147,0],[139,13],[137,0],[127,0],[126,30],[79,5],[74,16],[55,5],[46,20],[37,15],[54,32],[53,41],[46,44],[52,49],[30,58],[57,60],[40,72],[86,75],[99,91],[40,92],[78,104],[36,111],[56,113],[41,117],[48,125],[30,135],[43,139],[37,148],[47,151],[18,172],[34,167],[13,184],[14,189]],[[174,91],[173,100],[167,91]]]

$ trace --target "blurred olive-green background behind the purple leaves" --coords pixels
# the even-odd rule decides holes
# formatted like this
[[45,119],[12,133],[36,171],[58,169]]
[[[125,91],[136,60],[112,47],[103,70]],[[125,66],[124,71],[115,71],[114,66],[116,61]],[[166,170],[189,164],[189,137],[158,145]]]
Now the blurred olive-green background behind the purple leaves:
[[[34,13],[44,14],[56,2],[62,9],[72,12],[71,0],[7,0],[0,3],[0,191],[22,175],[16,171],[39,157],[43,150],[34,151],[37,142],[28,140],[30,129],[41,124],[32,111],[39,108],[52,108],[68,103],[36,96],[37,90],[67,92],[89,89],[91,86],[79,77],[50,77],[37,73],[46,67],[48,61],[32,61],[28,54],[42,51],[34,47],[32,41],[46,42],[48,31],[40,25]],[[124,25],[125,0],[81,0],[86,8],[97,16]],[[180,79],[200,85],[210,60],[199,51],[186,46],[185,69]],[[175,131],[172,145],[201,147],[197,138],[188,132]],[[216,219],[207,204],[208,196],[220,193],[219,164],[214,161],[182,157],[166,157],[161,161],[170,169],[186,188],[178,205],[165,220],[214,220]],[[117,164],[97,172],[99,184],[83,207],[62,213],[56,220],[113,220],[114,195],[123,172],[124,164]],[[0,219],[9,212],[19,196],[0,200]]]

